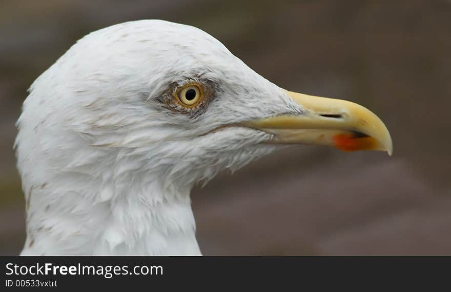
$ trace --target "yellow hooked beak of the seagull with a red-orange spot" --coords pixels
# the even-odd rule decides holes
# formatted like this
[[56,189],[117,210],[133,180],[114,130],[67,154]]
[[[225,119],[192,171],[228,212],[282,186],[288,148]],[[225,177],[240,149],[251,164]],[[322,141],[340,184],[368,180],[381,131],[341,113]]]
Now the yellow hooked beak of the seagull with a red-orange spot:
[[271,143],[330,145],[345,151],[393,153],[390,133],[372,111],[349,101],[286,91],[305,112],[243,123],[273,134]]

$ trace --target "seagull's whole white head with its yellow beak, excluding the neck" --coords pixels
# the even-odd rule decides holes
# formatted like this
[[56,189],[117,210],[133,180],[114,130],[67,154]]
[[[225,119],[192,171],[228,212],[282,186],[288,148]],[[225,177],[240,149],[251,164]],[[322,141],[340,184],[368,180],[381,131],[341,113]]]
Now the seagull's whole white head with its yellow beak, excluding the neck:
[[164,21],[78,41],[31,86],[19,124],[27,119],[35,129],[56,125],[36,138],[53,141],[53,165],[103,181],[153,172],[192,185],[287,144],[392,153],[370,110],[284,90],[211,35]]

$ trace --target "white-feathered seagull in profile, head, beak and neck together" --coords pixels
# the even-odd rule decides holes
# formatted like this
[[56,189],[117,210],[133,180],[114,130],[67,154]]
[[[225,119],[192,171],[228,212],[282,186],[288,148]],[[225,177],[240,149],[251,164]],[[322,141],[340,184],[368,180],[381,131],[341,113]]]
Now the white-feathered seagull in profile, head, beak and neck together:
[[21,255],[199,256],[196,183],[293,144],[393,151],[363,106],[282,89],[161,20],[81,38],[33,82],[16,125]]

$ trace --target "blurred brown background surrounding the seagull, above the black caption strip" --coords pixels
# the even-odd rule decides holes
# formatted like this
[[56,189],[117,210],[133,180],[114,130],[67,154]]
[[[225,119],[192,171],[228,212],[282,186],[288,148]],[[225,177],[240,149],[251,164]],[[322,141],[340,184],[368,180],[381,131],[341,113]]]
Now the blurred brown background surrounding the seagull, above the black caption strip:
[[205,255],[451,255],[451,1],[0,3],[0,254],[25,240],[12,150],[26,90],[78,38],[194,25],[279,86],[358,102],[394,154],[298,146],[192,192]]

